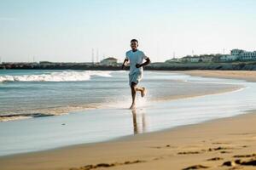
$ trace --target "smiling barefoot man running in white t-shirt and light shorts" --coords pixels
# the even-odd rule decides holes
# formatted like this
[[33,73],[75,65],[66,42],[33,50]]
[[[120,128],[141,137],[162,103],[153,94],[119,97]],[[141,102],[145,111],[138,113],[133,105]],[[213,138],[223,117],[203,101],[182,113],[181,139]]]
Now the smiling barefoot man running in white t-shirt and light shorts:
[[[130,109],[135,109],[135,97],[137,91],[141,92],[142,97],[146,94],[146,88],[138,87],[137,84],[143,78],[143,66],[150,63],[150,59],[143,53],[143,51],[138,50],[137,47],[137,39],[132,39],[131,50],[126,52],[126,57],[122,65],[122,69],[124,69],[125,63],[128,61],[130,62],[129,84],[131,87],[132,98]],[[143,59],[145,59],[146,62],[143,63]]]

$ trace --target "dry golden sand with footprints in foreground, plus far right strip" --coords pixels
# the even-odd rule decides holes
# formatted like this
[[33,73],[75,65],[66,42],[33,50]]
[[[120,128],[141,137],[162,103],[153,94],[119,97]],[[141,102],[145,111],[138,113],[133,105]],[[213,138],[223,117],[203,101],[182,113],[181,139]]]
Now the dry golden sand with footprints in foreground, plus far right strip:
[[[256,80],[250,71],[183,71]],[[255,169],[256,111],[195,125],[0,157],[1,169]]]

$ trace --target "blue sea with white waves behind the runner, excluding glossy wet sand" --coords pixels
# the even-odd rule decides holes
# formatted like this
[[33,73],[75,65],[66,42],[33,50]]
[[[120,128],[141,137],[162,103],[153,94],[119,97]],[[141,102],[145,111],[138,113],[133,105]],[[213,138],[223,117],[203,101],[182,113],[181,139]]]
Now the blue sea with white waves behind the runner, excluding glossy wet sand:
[[[188,76],[170,72],[145,71],[140,84],[148,88],[148,101],[231,87],[208,82],[193,82],[195,86],[191,86],[187,79]],[[128,71],[0,71],[0,116],[12,116],[2,120],[12,120],[13,115],[59,115],[116,107],[117,103],[126,108],[131,104]]]

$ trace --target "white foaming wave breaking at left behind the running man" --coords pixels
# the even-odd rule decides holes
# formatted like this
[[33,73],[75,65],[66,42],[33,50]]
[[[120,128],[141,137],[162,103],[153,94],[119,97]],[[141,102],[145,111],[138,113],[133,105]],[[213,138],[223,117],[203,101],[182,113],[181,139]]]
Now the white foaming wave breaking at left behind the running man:
[[88,81],[90,77],[112,77],[111,71],[61,71],[38,75],[0,76],[0,82],[79,82]]

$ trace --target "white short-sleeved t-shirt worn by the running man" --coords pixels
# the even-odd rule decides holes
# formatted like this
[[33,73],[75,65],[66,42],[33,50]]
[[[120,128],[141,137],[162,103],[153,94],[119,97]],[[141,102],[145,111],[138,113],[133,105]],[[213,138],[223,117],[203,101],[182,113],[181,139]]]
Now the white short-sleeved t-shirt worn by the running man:
[[135,72],[143,73],[143,66],[140,68],[136,67],[136,64],[143,64],[143,59],[147,59],[148,57],[143,53],[143,51],[140,51],[137,49],[136,52],[133,52],[132,50],[126,52],[125,59],[128,59],[130,61],[130,73],[133,74]]

